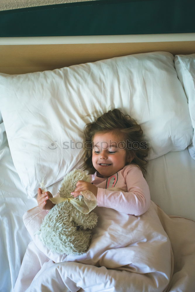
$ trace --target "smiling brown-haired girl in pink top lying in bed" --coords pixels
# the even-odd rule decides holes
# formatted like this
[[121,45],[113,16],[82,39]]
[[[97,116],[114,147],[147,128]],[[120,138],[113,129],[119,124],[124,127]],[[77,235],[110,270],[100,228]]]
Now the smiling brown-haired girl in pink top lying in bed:
[[[71,194],[77,197],[81,191],[89,190],[99,207],[144,214],[150,205],[150,192],[142,174],[148,148],[141,127],[129,115],[113,109],[87,124],[84,133],[84,169],[92,174],[92,181],[79,180]],[[40,208],[49,210],[54,206],[49,197],[50,192],[42,194],[38,189]]]

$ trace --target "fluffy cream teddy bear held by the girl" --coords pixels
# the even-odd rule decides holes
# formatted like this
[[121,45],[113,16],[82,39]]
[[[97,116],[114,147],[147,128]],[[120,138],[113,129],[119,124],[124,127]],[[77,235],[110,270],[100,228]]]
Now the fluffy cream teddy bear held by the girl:
[[[70,192],[75,190],[78,180],[90,181],[87,171],[73,170],[68,173],[62,182],[60,196],[73,198]],[[82,196],[77,197],[83,200]],[[56,204],[45,216],[40,227],[40,238],[53,252],[82,254],[87,251],[92,236],[92,229],[97,224],[97,215],[94,212],[83,214],[68,200]]]

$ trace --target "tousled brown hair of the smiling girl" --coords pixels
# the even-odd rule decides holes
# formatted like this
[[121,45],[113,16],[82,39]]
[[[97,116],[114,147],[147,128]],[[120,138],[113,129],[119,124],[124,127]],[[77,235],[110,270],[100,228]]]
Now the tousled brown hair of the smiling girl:
[[[84,169],[90,174],[95,173],[96,169],[92,164],[92,142],[97,133],[113,131],[120,141],[126,143],[125,147],[127,158],[132,158],[131,163],[138,165],[143,173],[146,172],[146,157],[148,156],[147,142],[143,141],[143,131],[141,127],[128,114],[123,114],[119,109],[109,110],[96,119],[96,121],[85,125],[85,147],[84,147]],[[132,145],[138,145],[132,147]],[[132,149],[130,149],[132,147]],[[127,163],[128,164],[128,163]]]

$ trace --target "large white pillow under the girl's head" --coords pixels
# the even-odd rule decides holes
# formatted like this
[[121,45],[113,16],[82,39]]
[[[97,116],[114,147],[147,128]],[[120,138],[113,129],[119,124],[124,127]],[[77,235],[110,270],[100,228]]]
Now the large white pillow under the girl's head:
[[49,186],[82,165],[83,128],[98,111],[120,108],[136,119],[150,144],[150,159],[185,149],[193,130],[173,59],[167,52],[142,53],[0,74],[0,109],[28,197],[43,178]]

